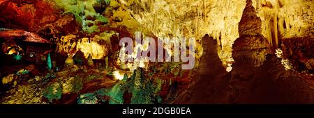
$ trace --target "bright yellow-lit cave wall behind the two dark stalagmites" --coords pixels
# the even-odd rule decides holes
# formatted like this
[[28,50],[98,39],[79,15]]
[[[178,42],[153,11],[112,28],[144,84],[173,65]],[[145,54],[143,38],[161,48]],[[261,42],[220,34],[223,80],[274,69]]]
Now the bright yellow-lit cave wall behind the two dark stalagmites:
[[[238,24],[246,0],[170,1],[121,0],[137,22],[157,37],[195,37],[205,34],[218,43],[223,65],[233,62],[232,44],[239,37]],[[262,35],[274,47],[280,40],[313,35],[313,1],[253,0],[262,22]]]

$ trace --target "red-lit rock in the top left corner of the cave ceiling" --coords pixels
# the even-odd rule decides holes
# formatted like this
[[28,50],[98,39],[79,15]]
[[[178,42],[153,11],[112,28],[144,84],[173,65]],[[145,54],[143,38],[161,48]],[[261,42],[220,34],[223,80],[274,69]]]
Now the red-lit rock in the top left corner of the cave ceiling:
[[36,31],[37,28],[55,22],[59,11],[46,1],[0,0],[0,24],[6,28],[23,28]]

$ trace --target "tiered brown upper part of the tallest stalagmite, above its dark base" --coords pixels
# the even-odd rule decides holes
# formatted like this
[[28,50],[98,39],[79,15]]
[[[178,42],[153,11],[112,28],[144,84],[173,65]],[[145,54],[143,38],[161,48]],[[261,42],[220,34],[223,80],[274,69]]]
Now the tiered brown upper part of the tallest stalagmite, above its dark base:
[[233,44],[232,57],[236,64],[259,67],[266,60],[269,44],[260,34],[262,22],[252,6],[252,1],[246,1],[246,8],[239,23],[240,37]]

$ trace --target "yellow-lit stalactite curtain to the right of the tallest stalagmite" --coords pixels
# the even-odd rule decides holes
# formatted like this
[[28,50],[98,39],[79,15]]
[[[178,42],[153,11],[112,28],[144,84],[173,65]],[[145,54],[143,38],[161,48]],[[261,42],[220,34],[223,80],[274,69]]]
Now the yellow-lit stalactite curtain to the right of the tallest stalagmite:
[[308,16],[313,14],[311,12],[313,7],[308,6],[313,6],[313,2],[264,0],[260,2],[260,5],[257,2],[255,6],[262,6],[257,11],[257,15],[262,19],[262,35],[267,38],[272,47],[279,47],[281,38],[301,37],[311,34],[308,28],[313,27],[313,19]]

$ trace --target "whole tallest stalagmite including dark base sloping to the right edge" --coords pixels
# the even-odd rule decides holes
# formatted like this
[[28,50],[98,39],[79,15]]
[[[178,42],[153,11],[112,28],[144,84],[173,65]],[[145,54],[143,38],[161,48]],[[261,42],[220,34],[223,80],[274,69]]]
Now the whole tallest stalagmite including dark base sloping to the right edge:
[[[252,12],[251,0],[244,10]],[[257,18],[255,15],[251,16]],[[260,19],[251,19],[239,24],[241,35],[233,44],[232,56],[235,60],[231,71],[230,96],[232,103],[313,103],[314,91],[304,82],[307,77],[298,72],[287,70],[281,58],[271,52],[271,45],[260,32],[251,31],[261,26]],[[255,21],[254,21],[255,20]],[[241,21],[243,21],[241,19]],[[251,24],[250,24],[251,22]],[[251,34],[248,34],[251,33]]]

